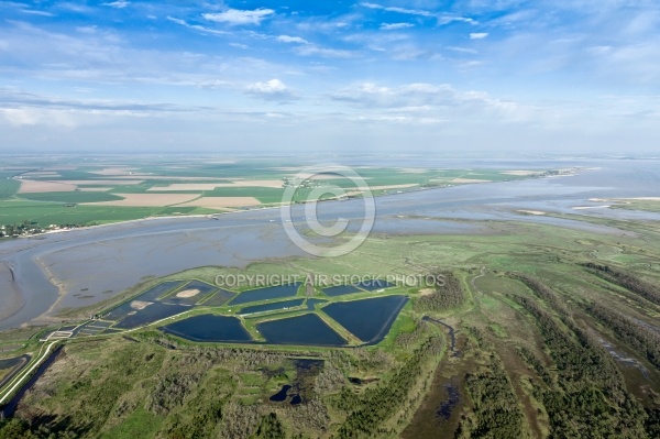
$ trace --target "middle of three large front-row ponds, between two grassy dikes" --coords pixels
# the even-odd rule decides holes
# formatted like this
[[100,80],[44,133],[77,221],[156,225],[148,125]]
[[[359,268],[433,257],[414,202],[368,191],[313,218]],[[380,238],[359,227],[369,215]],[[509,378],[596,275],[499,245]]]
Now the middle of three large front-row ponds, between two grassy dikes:
[[262,321],[256,329],[268,343],[274,344],[340,347],[346,343],[316,314]]

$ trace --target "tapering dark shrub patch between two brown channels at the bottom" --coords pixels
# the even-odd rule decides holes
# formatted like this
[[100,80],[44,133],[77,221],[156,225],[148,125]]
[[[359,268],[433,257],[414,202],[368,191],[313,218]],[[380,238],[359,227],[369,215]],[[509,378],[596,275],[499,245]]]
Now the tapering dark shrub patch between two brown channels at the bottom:
[[[472,329],[480,349],[492,350],[479,330]],[[502,361],[491,352],[485,367],[466,374],[465,388],[472,399],[472,411],[463,415],[454,433],[466,438],[519,438],[522,433],[522,413]]]

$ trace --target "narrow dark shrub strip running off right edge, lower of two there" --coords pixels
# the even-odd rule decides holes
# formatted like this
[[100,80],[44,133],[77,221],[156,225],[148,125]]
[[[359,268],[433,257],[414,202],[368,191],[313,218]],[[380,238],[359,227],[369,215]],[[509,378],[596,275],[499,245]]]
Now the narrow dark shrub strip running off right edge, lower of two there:
[[591,303],[585,310],[614,331],[617,339],[641,353],[660,369],[660,334],[614,309]]

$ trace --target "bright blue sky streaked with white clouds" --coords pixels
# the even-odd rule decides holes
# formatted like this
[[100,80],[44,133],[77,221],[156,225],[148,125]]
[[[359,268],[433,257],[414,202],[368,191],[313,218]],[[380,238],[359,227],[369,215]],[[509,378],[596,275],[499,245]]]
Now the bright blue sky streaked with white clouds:
[[658,151],[654,0],[0,1],[0,152]]

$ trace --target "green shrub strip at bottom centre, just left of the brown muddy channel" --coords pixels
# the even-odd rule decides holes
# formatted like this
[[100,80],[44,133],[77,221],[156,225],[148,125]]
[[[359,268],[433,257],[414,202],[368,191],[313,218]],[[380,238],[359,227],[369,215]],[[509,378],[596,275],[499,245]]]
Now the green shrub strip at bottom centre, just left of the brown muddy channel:
[[355,395],[344,387],[333,398],[338,409],[348,413],[339,428],[336,438],[383,437],[393,431],[385,422],[395,416],[402,406],[402,400],[415,386],[422,374],[422,366],[430,356],[437,356],[442,349],[442,340],[429,337],[410,358],[388,380],[369,387],[361,395]]

